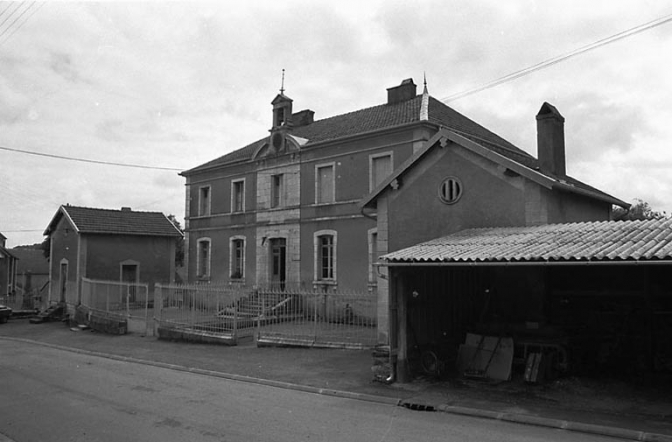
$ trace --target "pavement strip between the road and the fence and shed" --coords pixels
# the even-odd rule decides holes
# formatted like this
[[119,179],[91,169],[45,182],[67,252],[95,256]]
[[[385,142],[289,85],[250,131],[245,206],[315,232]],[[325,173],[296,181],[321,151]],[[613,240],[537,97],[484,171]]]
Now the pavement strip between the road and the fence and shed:
[[[671,378],[561,378],[530,385],[514,378],[491,383],[459,378],[373,381],[370,351],[170,342],[140,334],[72,331],[60,322],[10,319],[0,339],[46,345],[172,370],[254,382],[315,394],[498,419],[624,440],[672,442]],[[1,439],[0,439],[1,440]]]

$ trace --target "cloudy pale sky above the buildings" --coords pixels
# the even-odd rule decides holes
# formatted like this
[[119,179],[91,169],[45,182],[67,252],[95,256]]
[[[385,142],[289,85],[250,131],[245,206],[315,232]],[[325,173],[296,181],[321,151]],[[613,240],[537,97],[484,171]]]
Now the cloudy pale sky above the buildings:
[[534,156],[549,102],[569,175],[671,213],[672,20],[563,57],[666,17],[646,0],[0,1],[0,233],[41,242],[61,204],[184,225],[178,173],[267,135],[283,69],[316,119],[426,75]]

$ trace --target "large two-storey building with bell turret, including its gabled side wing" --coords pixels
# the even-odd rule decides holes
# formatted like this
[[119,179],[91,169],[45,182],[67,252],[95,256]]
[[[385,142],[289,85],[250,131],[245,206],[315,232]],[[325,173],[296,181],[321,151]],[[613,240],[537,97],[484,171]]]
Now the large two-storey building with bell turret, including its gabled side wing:
[[[426,85],[417,94],[412,79],[387,89],[387,97],[378,106],[315,120],[311,110],[294,112],[293,101],[281,91],[271,102],[268,136],[182,172],[188,280],[377,290],[380,320],[387,315],[387,293],[380,290],[385,279],[374,264],[383,252],[466,226],[609,219],[614,199],[564,174],[561,131],[540,135],[551,136],[544,145],[562,143],[562,150],[540,152],[538,160],[431,97]],[[550,105],[538,120],[556,128],[564,121]],[[437,138],[439,132],[443,138]],[[418,158],[435,155],[433,146],[445,142],[448,133],[473,149],[427,162],[431,176],[423,176],[420,165],[390,180],[417,165]],[[473,158],[464,158],[468,155]],[[507,168],[509,163],[516,166]],[[454,169],[450,174],[464,172],[443,187],[450,199],[465,186],[465,204],[452,205],[460,211],[459,222],[435,212],[434,179],[446,178],[444,167]],[[546,181],[528,186],[521,199],[527,178],[520,173]],[[511,182],[503,187],[498,176],[506,174]],[[378,216],[375,204],[383,200],[378,195],[404,187],[407,178],[416,180],[415,190],[403,192],[407,199],[389,216]],[[554,190],[546,185],[551,181]],[[569,183],[566,189],[560,189],[561,182]],[[564,204],[563,191],[585,197]]]

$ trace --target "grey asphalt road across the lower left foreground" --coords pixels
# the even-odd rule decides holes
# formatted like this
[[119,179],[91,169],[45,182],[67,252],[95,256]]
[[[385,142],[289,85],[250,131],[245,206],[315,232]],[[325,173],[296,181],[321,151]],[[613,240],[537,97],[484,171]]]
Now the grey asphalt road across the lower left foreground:
[[0,442],[613,441],[0,340]]

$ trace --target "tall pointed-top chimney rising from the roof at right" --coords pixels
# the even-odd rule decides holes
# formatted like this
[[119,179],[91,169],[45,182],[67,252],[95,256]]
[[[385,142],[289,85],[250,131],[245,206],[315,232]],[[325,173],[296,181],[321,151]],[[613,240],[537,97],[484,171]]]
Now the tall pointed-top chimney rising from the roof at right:
[[542,172],[565,178],[565,118],[546,102],[537,114],[537,156]]

